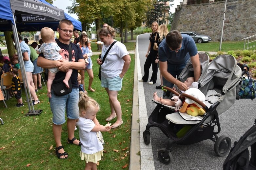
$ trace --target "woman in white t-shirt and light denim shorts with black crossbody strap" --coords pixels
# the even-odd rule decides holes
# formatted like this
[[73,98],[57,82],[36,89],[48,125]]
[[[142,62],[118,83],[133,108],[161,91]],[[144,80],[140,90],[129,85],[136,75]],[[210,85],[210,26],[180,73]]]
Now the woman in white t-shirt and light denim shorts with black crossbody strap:
[[131,58],[125,45],[117,41],[109,50],[104,63],[102,63],[108,48],[116,41],[114,39],[115,29],[108,26],[107,28],[101,28],[97,33],[104,43],[101,58],[97,59],[97,63],[101,65],[101,86],[104,87],[108,93],[111,109],[111,114],[106,121],[110,121],[117,116],[117,120],[112,127],[112,129],[114,129],[123,124],[122,109],[117,100],[117,95],[118,91],[122,89],[122,80],[130,66]]

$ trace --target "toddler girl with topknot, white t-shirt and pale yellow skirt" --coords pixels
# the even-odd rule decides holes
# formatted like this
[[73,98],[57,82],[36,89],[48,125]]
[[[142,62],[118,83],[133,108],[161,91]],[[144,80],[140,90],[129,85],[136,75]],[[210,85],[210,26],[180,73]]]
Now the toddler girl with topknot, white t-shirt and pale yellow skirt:
[[79,99],[79,137],[82,143],[80,157],[85,160],[85,170],[97,170],[97,161],[103,156],[104,143],[100,131],[110,131],[112,126],[104,127],[100,125],[96,118],[99,111],[99,104],[88,97],[86,93],[81,93]]

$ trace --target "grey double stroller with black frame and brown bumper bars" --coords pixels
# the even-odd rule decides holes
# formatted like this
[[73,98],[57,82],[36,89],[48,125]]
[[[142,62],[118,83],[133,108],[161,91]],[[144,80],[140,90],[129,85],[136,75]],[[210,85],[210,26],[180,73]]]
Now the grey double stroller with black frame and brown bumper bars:
[[[175,112],[173,108],[154,101],[157,106],[148,117],[148,124],[143,132],[145,144],[150,143],[150,127],[158,127],[168,137],[167,147],[158,151],[158,158],[164,164],[172,162],[171,150],[174,143],[189,145],[210,139],[214,142],[214,152],[219,156],[226,155],[231,148],[231,139],[228,136],[218,136],[221,131],[219,115],[236,100],[241,86],[241,68],[231,55],[219,55],[209,63],[208,55],[199,53],[199,59],[202,74],[198,80],[198,89],[205,95],[205,103],[185,93],[181,97],[201,105],[206,111],[205,115],[197,116],[198,119],[193,120],[184,119],[179,111]],[[184,82],[191,76],[194,73],[190,61],[178,79]],[[163,88],[177,95],[173,89]]]

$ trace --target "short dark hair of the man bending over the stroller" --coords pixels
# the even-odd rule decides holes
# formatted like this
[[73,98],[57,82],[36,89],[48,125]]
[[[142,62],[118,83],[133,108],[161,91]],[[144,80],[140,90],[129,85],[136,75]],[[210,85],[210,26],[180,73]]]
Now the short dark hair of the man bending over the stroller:
[[166,36],[166,43],[172,50],[177,50],[182,42],[181,33],[177,30],[170,31]]

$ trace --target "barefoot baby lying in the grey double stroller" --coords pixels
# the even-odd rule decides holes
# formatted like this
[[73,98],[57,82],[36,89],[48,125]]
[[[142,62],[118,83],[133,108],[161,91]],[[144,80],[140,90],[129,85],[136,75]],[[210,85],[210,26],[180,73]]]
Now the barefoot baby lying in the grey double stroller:
[[[187,87],[189,88],[194,81],[195,81],[194,77],[188,77],[187,80],[184,82],[184,84],[187,85]],[[177,89],[175,87],[172,87],[172,89],[176,90],[178,93],[184,93],[184,91],[180,90],[179,87]],[[156,92],[153,94],[153,99],[168,106],[175,106],[175,102],[176,102],[170,99],[163,99],[162,97],[159,98]]]

